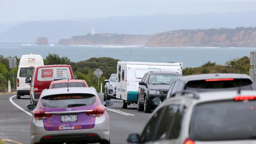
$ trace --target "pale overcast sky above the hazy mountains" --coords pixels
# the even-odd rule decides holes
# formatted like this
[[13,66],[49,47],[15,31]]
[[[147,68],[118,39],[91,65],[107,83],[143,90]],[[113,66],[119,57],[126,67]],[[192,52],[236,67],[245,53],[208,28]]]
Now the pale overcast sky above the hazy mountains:
[[256,11],[256,0],[0,0],[0,24],[32,20]]

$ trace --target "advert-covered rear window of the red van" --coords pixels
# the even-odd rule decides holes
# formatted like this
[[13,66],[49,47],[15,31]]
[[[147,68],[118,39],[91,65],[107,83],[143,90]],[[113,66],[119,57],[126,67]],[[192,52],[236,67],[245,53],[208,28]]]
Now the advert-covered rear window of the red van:
[[71,79],[69,67],[39,68],[37,73],[38,81],[54,81],[68,78]]

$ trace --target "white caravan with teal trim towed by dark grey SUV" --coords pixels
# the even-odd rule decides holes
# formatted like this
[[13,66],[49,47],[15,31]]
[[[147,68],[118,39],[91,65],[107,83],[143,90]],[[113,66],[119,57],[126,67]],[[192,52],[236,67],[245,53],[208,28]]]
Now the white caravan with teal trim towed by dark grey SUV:
[[183,63],[117,62],[116,98],[124,103],[137,103],[139,81],[149,71],[170,71],[182,74]]

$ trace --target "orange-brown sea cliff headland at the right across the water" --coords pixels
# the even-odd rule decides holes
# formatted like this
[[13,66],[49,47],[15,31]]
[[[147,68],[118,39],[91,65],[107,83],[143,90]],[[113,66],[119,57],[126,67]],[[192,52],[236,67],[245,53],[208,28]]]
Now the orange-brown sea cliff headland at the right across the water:
[[153,35],[145,46],[256,47],[256,28],[169,31]]

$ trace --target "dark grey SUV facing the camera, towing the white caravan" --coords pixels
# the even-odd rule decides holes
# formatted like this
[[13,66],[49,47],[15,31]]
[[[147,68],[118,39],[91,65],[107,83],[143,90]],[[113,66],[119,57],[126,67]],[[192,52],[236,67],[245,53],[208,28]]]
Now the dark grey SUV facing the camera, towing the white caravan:
[[150,71],[139,82],[137,110],[150,113],[155,107],[152,105],[154,98],[165,100],[171,83],[182,75],[178,72]]

